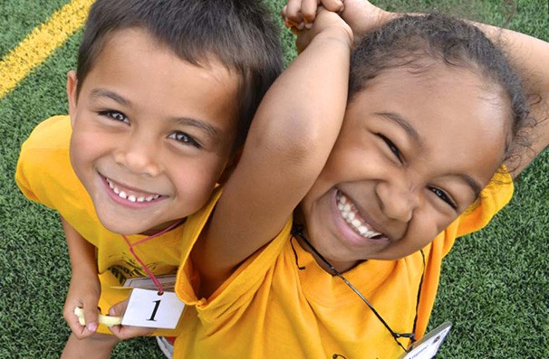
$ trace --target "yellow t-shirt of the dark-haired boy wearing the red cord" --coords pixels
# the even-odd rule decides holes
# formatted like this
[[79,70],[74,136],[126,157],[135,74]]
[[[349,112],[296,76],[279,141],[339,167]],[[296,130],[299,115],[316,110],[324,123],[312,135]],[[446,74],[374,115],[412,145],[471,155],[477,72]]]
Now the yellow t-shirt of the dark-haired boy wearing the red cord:
[[[129,289],[120,289],[126,279],[147,277],[134,259],[120,234],[106,230],[99,222],[92,199],[72,170],[69,143],[72,133],[68,116],[48,118],[34,128],[24,142],[15,181],[30,200],[42,203],[60,213],[83,238],[97,249],[96,258],[101,280],[99,306],[103,314],[128,298]],[[120,219],[122,220],[122,219]],[[183,226],[134,247],[155,275],[175,274],[180,260]],[[127,236],[131,243],[145,238]],[[111,333],[100,326],[100,332]],[[178,331],[159,330],[156,335],[175,335]]]

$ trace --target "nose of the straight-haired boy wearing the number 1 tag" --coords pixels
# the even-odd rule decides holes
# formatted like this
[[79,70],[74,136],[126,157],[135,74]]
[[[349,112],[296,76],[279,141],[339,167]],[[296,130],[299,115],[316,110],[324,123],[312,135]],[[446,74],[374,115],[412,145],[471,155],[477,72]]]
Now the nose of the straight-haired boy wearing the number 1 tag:
[[135,175],[154,177],[159,175],[159,145],[153,138],[147,136],[131,136],[120,142],[120,147],[114,154],[117,165],[124,167]]

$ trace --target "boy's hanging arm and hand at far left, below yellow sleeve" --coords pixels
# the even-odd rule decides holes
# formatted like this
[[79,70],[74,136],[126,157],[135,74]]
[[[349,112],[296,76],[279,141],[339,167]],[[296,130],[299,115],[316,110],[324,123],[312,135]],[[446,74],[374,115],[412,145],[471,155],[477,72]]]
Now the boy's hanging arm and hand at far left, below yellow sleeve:
[[[101,285],[97,277],[95,247],[86,241],[69,222],[61,218],[63,231],[67,239],[67,248],[71,259],[71,284],[65,299],[63,316],[71,327],[72,333],[79,339],[92,335],[98,326],[99,296]],[[82,307],[86,326],[81,326],[74,315],[74,307]]]

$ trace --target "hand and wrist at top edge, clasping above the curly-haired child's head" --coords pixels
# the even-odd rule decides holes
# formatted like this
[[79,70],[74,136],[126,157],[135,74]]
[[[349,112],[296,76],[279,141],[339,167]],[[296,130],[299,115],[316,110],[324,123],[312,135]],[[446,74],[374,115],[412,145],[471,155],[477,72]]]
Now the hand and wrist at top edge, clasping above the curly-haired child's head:
[[284,24],[294,33],[300,33],[313,24],[320,5],[326,10],[339,13],[357,36],[386,23],[396,15],[367,0],[288,0],[288,5],[283,9]]

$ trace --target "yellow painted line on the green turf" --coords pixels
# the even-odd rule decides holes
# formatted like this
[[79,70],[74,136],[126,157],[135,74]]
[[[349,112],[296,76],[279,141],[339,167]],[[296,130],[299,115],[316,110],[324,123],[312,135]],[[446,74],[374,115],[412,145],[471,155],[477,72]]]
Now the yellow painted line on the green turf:
[[93,1],[72,0],[5,55],[0,61],[0,99],[82,27]]

